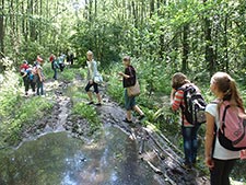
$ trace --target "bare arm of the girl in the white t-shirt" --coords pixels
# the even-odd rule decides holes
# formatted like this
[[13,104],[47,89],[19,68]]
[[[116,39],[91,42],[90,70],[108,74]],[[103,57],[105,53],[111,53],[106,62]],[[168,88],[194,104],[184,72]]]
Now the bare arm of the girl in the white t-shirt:
[[213,150],[215,118],[209,113],[206,113],[206,118],[207,118],[206,146],[204,146],[206,165],[212,169],[214,165],[212,161],[212,150]]

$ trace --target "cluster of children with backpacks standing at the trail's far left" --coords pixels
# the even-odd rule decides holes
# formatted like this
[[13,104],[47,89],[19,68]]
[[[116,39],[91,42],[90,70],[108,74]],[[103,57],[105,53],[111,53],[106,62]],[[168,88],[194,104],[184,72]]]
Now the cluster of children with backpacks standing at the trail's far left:
[[33,65],[24,60],[20,67],[26,96],[28,95],[30,88],[32,89],[33,94],[44,95],[45,76],[42,68],[43,62],[43,58],[40,56],[37,56]]

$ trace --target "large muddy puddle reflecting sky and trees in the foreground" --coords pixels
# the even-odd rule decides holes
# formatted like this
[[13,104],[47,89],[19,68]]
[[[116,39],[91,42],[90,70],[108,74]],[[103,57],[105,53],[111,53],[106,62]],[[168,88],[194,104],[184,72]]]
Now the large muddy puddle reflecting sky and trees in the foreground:
[[159,178],[138,159],[136,141],[112,126],[91,143],[47,134],[0,157],[1,185],[157,185]]

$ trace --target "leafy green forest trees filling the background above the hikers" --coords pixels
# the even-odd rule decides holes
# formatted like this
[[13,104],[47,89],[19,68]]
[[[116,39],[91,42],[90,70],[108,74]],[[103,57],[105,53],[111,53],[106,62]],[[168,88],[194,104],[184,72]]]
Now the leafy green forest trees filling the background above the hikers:
[[[244,0],[1,0],[0,5],[1,58],[14,65],[69,50],[80,62],[92,49],[103,67],[128,54],[171,72],[245,73]],[[0,66],[5,69],[4,60]]]

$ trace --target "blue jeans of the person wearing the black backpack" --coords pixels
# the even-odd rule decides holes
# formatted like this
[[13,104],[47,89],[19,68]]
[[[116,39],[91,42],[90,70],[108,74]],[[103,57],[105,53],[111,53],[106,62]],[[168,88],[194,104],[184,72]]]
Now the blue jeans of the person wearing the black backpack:
[[192,164],[197,161],[197,131],[199,127],[181,127],[185,151],[185,163]]

